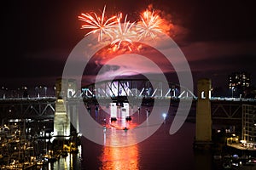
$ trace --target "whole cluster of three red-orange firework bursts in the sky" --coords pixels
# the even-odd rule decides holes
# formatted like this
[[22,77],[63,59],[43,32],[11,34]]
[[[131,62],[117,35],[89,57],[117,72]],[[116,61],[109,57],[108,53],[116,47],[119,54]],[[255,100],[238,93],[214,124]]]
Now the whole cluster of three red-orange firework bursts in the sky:
[[82,29],[90,29],[85,36],[96,33],[98,34],[98,41],[102,41],[103,36],[107,36],[113,46],[113,51],[122,47],[127,47],[131,50],[131,44],[133,41],[139,41],[144,37],[151,37],[154,39],[157,33],[164,31],[161,27],[165,27],[166,23],[160,18],[160,15],[156,14],[154,10],[145,10],[140,15],[138,22],[131,22],[127,20],[127,14],[125,20],[122,23],[122,14],[115,15],[111,18],[107,18],[105,15],[106,6],[103,8],[102,16],[98,17],[96,13],[81,14],[79,20],[84,21]]

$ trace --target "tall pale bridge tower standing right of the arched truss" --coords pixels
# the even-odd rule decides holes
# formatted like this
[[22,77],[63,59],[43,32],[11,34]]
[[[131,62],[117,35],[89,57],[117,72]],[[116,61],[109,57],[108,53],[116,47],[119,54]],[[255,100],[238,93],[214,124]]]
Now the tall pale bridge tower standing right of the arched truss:
[[212,82],[210,79],[201,79],[197,82],[196,148],[207,149],[212,144],[211,89]]

